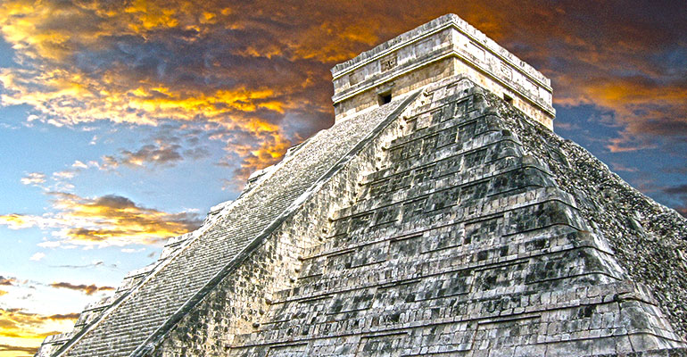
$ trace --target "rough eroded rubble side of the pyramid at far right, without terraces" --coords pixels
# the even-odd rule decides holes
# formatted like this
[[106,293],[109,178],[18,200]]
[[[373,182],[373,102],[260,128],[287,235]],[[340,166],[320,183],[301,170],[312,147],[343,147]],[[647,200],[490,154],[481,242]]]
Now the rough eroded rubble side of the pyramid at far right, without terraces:
[[608,170],[582,146],[555,135],[490,95],[529,154],[546,162],[557,185],[604,237],[629,278],[656,297],[675,332],[687,339],[687,221]]

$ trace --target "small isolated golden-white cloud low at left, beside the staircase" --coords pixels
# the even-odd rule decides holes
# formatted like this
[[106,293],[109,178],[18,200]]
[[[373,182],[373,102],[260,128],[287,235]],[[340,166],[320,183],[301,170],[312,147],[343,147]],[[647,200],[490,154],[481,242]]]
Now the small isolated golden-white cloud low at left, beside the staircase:
[[51,192],[54,212],[43,216],[17,213],[0,216],[8,228],[52,230],[58,240],[42,246],[151,245],[200,226],[195,212],[168,213],[146,208],[120,195],[87,198]]

